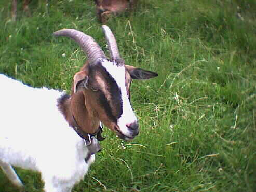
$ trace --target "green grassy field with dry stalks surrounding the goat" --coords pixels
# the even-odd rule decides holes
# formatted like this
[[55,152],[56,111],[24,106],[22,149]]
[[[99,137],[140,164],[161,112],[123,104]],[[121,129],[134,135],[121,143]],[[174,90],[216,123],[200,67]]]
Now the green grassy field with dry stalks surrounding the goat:
[[[86,56],[52,33],[74,28],[106,42],[93,1],[48,2],[32,1],[31,17],[19,5],[16,22],[0,2],[0,73],[70,92]],[[141,0],[111,18],[126,64],[158,77],[132,84],[140,135],[124,142],[105,127],[73,191],[256,191],[255,10],[254,0]],[[38,173],[16,170],[27,191],[42,191]],[[17,191],[3,172],[0,191]]]

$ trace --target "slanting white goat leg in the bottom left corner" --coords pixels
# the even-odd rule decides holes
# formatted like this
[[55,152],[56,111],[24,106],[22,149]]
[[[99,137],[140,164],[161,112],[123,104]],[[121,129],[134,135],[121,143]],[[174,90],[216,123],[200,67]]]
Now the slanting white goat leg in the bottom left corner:
[[17,187],[23,187],[22,182],[20,181],[18,175],[16,174],[14,168],[9,163],[5,163],[0,160],[0,167],[8,177],[8,179]]

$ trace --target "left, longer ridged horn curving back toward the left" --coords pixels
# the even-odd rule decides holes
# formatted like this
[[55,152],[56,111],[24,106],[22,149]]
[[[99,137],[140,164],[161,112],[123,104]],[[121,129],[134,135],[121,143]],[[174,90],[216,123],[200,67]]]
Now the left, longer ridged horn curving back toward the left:
[[75,40],[76,43],[87,54],[92,63],[96,63],[100,58],[106,58],[98,43],[89,35],[75,29],[62,29],[53,33],[55,36],[66,36]]

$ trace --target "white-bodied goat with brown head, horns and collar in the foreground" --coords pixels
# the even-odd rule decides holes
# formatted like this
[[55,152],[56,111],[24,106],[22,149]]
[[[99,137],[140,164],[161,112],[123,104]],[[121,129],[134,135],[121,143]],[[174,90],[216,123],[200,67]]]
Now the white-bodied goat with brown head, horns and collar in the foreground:
[[73,77],[71,95],[32,88],[0,75],[4,85],[0,166],[16,186],[23,184],[12,166],[41,172],[45,191],[71,191],[100,150],[101,122],[125,141],[139,134],[130,104],[130,83],[157,73],[125,65],[113,33],[107,26],[102,28],[111,59],[83,32],[62,29],[53,33],[74,39],[88,56]]

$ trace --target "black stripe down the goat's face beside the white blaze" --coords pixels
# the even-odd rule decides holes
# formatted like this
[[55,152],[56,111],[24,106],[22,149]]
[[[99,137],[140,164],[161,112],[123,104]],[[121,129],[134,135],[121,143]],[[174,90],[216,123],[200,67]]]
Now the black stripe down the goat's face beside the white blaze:
[[117,119],[120,118],[120,116],[123,114],[121,90],[118,87],[115,79],[109,74],[109,72],[107,72],[104,67],[99,65],[97,70],[99,72],[98,75],[100,75],[104,80],[107,90],[107,92],[99,90],[100,105],[102,108],[104,108],[106,115],[117,124]]

